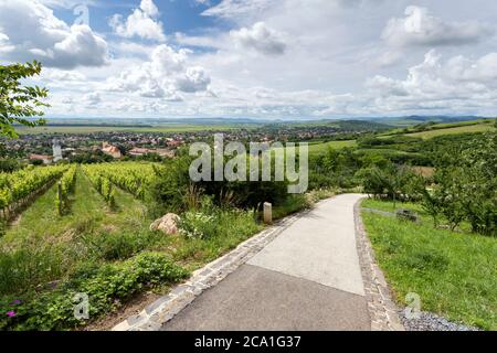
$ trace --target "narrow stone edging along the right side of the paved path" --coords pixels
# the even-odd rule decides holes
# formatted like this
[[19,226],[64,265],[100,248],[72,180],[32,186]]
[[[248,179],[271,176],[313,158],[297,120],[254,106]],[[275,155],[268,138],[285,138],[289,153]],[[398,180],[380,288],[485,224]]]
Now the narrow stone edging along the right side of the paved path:
[[399,318],[399,309],[390,297],[390,289],[383,272],[374,260],[374,250],[364,231],[361,218],[361,200],[353,206],[356,242],[364,284],[368,312],[372,331],[404,331]]

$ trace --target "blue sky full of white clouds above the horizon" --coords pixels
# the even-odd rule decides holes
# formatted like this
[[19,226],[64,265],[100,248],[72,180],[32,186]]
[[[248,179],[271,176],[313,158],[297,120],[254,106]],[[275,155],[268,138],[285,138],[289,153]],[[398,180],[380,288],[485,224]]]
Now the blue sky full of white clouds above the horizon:
[[496,116],[495,0],[0,0],[47,116]]

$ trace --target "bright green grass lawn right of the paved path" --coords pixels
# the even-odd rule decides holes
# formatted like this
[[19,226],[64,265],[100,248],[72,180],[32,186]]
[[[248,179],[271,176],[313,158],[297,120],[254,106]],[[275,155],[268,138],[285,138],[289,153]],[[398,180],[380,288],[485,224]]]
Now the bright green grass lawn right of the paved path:
[[[366,200],[363,207],[394,211]],[[399,303],[415,292],[422,310],[485,330],[497,330],[497,238],[436,229],[417,204],[419,224],[362,212],[377,260]]]

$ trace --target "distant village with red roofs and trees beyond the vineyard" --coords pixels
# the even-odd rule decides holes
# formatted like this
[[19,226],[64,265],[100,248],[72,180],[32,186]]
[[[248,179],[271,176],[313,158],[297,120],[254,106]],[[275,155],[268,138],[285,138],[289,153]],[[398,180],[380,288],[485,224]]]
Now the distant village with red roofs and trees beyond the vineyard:
[[[78,133],[29,133],[19,139],[6,139],[6,157],[28,160],[34,164],[50,164],[62,159],[71,162],[98,162],[146,157],[173,158],[179,147],[192,142],[211,141],[214,133],[223,133],[226,141],[299,142],[356,139],[384,126],[368,121],[340,121],[314,125],[268,124],[250,128],[220,128],[180,132],[97,131]],[[50,126],[49,126],[50,129]],[[116,129],[118,130],[118,129]]]

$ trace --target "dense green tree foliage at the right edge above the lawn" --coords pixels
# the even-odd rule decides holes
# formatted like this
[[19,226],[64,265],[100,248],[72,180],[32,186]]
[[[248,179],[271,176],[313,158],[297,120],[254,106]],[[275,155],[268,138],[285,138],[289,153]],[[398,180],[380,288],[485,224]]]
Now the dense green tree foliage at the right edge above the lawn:
[[497,133],[440,151],[434,184],[424,190],[424,206],[455,229],[467,221],[473,232],[497,235]]

